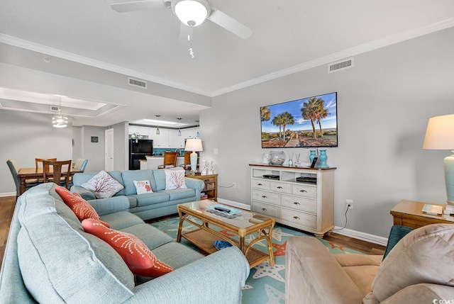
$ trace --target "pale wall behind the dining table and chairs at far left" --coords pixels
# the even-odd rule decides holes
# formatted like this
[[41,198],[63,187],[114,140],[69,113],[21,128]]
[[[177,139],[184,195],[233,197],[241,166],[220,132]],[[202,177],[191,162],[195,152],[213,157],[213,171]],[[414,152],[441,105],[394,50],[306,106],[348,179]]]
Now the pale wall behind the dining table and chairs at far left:
[[0,195],[16,193],[8,159],[35,167],[35,158],[46,157],[72,159],[72,128],[53,128],[48,114],[0,110]]

